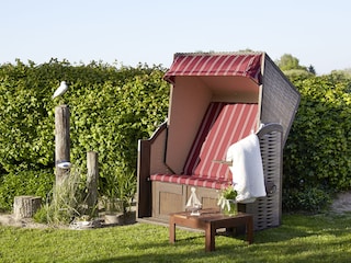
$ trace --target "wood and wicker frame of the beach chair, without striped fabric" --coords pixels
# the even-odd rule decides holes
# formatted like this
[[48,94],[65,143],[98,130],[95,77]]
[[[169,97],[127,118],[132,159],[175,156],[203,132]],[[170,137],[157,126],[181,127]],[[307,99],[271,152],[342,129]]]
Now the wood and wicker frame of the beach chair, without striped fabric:
[[[202,54],[190,54],[190,56],[197,55],[201,56]],[[226,77],[227,80],[229,79],[230,81],[238,80],[241,85],[242,83],[248,83],[248,91],[257,89],[254,96],[252,96],[253,93],[246,95],[245,90],[240,90],[241,93],[239,93],[239,95],[240,100],[246,100],[249,103],[252,103],[252,98],[257,100],[256,103],[259,104],[260,108],[258,121],[264,124],[257,135],[260,140],[267,196],[257,198],[257,201],[251,204],[239,204],[240,211],[253,215],[256,230],[281,225],[283,147],[299,104],[299,93],[275,64],[264,53],[259,54],[259,56],[261,56],[260,83],[256,83],[254,85],[250,84],[251,80],[249,81],[245,79],[245,77]],[[174,61],[176,59],[177,54]],[[184,163],[184,157],[181,157],[181,155],[176,155],[176,159],[174,156],[173,158],[169,158],[168,156],[170,151],[169,148],[173,147],[172,149],[176,149],[174,146],[177,146],[174,141],[173,145],[169,146],[169,138],[179,133],[179,129],[177,130],[179,126],[174,126],[174,122],[178,122],[177,125],[181,124],[179,116],[176,117],[173,123],[170,122],[172,121],[171,118],[174,118],[174,114],[177,114],[174,108],[182,110],[181,107],[185,106],[188,107],[186,110],[189,110],[189,105],[193,103],[193,101],[188,101],[183,105],[179,100],[186,100],[189,96],[196,95],[199,101],[195,103],[202,108],[211,102],[211,98],[213,96],[212,92],[213,94],[216,93],[215,99],[219,101],[237,100],[237,93],[228,91],[228,85],[222,82],[220,76],[208,78],[206,76],[193,78],[168,76],[167,80],[169,81],[170,79],[172,85],[169,119],[161,124],[149,139],[140,139],[138,141],[137,220],[167,224],[169,214],[185,209],[192,185],[150,180],[150,175],[156,173],[179,174],[179,165],[174,165],[174,163]],[[203,83],[207,79],[208,83],[206,89],[199,87],[199,83]],[[191,91],[189,87],[182,88],[185,81],[193,81],[189,87],[194,87],[196,91]],[[222,89],[220,91],[215,91],[217,85]],[[234,87],[238,85],[239,84],[234,84]],[[210,90],[208,87],[211,87]],[[179,93],[180,91],[185,92],[185,94],[181,95]],[[195,111],[197,116],[204,112],[203,110],[199,111],[199,107]],[[184,112],[181,114],[184,114]],[[193,122],[188,122],[188,124],[192,123]],[[200,122],[195,124],[195,127],[199,127],[199,125]],[[195,133],[194,127],[191,129],[188,128],[186,130],[190,130],[192,134]],[[186,134],[186,136],[191,138],[193,135],[189,136]],[[185,150],[182,149],[182,152],[185,152]],[[178,157],[181,157],[182,160],[178,160]],[[169,164],[169,161],[173,163]],[[173,171],[174,167],[177,167],[176,171]],[[218,190],[196,187],[196,195],[201,199],[203,207],[210,208],[216,206]]]

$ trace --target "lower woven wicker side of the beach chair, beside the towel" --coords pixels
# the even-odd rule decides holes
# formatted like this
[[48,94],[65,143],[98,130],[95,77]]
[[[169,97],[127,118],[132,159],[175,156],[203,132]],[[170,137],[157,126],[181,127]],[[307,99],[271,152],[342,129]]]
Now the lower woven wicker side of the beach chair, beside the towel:
[[246,205],[253,215],[254,230],[281,225],[282,214],[282,133],[272,132],[260,138],[267,196]]

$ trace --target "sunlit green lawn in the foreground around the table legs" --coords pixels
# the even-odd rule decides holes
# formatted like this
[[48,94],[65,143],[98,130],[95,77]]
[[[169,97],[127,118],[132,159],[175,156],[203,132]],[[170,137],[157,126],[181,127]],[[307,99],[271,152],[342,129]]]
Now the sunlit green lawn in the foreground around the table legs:
[[0,226],[0,262],[350,262],[351,214],[284,215],[279,228],[244,237],[216,237],[204,251],[204,236],[135,224],[93,230],[26,229]]

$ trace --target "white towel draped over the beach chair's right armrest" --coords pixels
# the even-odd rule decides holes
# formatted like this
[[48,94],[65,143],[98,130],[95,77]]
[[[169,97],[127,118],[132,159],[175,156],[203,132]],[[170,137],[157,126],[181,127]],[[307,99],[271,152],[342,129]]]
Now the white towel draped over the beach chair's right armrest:
[[226,161],[233,161],[229,169],[238,193],[237,202],[252,203],[257,197],[265,196],[260,141],[256,134],[231,145]]

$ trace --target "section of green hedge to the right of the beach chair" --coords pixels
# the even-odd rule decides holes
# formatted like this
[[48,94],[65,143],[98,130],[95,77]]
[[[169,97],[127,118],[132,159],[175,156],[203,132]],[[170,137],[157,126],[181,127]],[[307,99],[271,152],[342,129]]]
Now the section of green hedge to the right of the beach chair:
[[292,81],[302,101],[284,149],[283,206],[318,210],[330,193],[351,188],[351,81],[340,75]]

